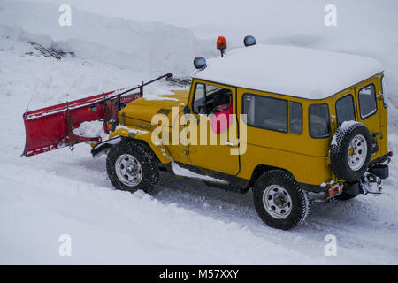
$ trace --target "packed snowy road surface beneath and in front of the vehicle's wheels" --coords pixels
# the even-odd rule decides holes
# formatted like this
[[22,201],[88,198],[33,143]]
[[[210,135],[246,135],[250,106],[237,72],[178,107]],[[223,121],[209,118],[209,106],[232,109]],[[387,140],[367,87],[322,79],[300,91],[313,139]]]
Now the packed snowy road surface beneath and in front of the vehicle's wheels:
[[[20,133],[22,134],[22,133]],[[11,146],[11,145],[8,145]],[[4,149],[4,146],[2,146]],[[261,222],[247,195],[162,174],[151,196],[113,190],[88,146],[38,157],[5,153],[0,166],[3,264],[396,264],[397,192],[315,203],[293,231]],[[59,256],[58,238],[73,240]],[[325,235],[337,256],[325,256]]]

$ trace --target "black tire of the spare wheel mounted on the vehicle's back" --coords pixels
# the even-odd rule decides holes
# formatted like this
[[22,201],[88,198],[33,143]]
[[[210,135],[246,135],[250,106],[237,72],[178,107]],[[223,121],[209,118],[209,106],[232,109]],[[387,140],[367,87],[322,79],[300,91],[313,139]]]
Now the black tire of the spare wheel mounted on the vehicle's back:
[[[353,169],[352,166],[348,164],[348,155],[350,155],[349,150],[351,150],[351,142],[358,136],[364,137],[366,153],[364,153],[364,164],[362,164],[360,168]],[[348,182],[355,182],[364,176],[364,172],[368,168],[371,160],[371,147],[371,133],[369,133],[368,128],[364,126],[364,124],[359,122],[342,124],[333,135],[330,150],[332,170],[336,177]]]

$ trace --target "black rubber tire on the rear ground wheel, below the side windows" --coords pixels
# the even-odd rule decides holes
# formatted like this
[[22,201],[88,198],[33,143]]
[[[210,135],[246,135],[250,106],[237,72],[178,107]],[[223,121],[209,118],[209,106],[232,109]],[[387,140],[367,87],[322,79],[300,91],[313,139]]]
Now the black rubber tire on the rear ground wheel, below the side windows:
[[[287,203],[284,203],[284,208],[289,210],[289,212],[287,214],[287,211],[285,211],[287,215],[284,218],[275,217],[275,215],[273,215],[276,213],[275,210],[273,210],[272,206],[267,208],[267,205],[269,204],[265,204],[266,201],[263,201],[263,198],[271,196],[270,194],[273,193],[272,191],[276,189],[273,188],[275,185],[282,187],[283,190],[285,190],[285,192],[283,192],[285,195],[280,195],[282,195],[282,197],[286,197],[287,193],[291,201],[289,206],[288,199],[285,199]],[[279,195],[277,197],[279,197]],[[307,193],[298,186],[295,178],[293,178],[290,173],[282,170],[272,170],[261,175],[255,182],[255,186],[253,188],[253,199],[257,214],[264,223],[281,230],[289,230],[302,225],[310,212],[310,201]],[[282,204],[283,203],[280,203],[281,206]]]

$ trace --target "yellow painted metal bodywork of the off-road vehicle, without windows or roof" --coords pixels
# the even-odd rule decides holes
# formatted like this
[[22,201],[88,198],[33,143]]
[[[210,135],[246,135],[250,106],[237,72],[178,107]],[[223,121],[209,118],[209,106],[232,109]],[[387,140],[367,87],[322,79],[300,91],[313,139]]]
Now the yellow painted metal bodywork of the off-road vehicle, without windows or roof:
[[[246,88],[236,88],[210,81],[194,79],[190,91],[175,91],[174,95],[164,96],[166,100],[146,100],[139,98],[129,103],[119,112],[119,122],[125,127],[119,128],[110,137],[117,135],[134,137],[147,142],[155,152],[160,162],[170,163],[172,160],[184,164],[203,167],[216,172],[223,172],[249,180],[252,173],[259,165],[277,167],[291,172],[298,182],[319,186],[321,183],[335,180],[329,162],[329,148],[333,134],[337,129],[335,103],[338,98],[352,95],[355,100],[356,120],[364,123],[371,134],[378,133],[376,141],[379,151],[371,160],[387,154],[387,108],[383,104],[381,79],[379,73],[370,79],[359,82],[355,86],[346,88],[322,100],[310,100],[295,96],[284,96]],[[179,121],[184,115],[184,106],[189,105],[192,110],[195,84],[202,82],[208,85],[228,88],[233,93],[233,114],[241,114],[242,96],[249,93],[256,96],[269,96],[302,104],[302,134],[281,133],[263,128],[247,126],[246,152],[241,155],[229,154],[231,146],[221,145],[189,145],[169,144],[158,145],[151,140],[151,134],[158,124],[151,124],[152,117],[161,112],[172,121],[165,131],[172,133],[172,129],[183,130],[187,125],[180,125]],[[376,88],[377,111],[366,119],[362,119],[359,112],[358,91],[373,83]],[[331,120],[331,134],[325,138],[310,137],[309,107],[311,104],[327,103]],[[172,107],[174,111],[172,111]],[[177,110],[177,111],[175,111]],[[199,119],[199,115],[194,114]],[[202,123],[202,120],[201,120]],[[240,128],[239,123],[244,123],[239,118],[233,120],[233,126]],[[146,133],[144,133],[146,132]],[[241,137],[236,132],[236,137]],[[199,132],[198,132],[199,134]],[[377,134],[376,134],[377,135]],[[209,136],[209,134],[208,134]],[[170,138],[172,139],[172,138]]]

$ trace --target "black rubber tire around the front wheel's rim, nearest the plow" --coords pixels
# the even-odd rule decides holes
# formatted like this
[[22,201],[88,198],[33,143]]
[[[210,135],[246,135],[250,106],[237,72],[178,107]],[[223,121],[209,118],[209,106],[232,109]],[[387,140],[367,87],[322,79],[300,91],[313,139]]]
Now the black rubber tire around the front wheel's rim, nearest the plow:
[[[119,164],[118,166],[117,162],[119,162],[118,160],[123,160],[123,157],[131,158],[136,162],[135,165],[139,164],[141,166],[138,173],[138,175],[142,176],[141,180],[135,181],[134,184],[127,185],[126,182],[128,183],[128,180],[119,178],[117,170],[119,170],[119,166],[123,165]],[[106,159],[106,171],[108,172],[108,177],[113,187],[132,193],[139,189],[146,193],[150,193],[154,190],[159,180],[157,157],[149,146],[135,140],[123,140],[113,146]],[[120,174],[122,173],[119,171],[119,175]]]

